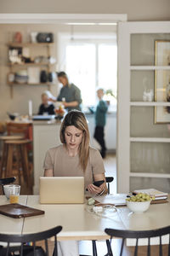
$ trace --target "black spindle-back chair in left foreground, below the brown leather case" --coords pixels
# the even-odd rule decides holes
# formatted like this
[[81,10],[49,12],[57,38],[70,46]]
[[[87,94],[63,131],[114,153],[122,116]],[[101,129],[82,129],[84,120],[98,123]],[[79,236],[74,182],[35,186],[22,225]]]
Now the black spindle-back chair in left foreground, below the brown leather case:
[[[0,234],[0,241],[7,242],[7,247],[0,248],[1,256],[48,256],[48,238],[54,236],[54,256],[57,256],[57,235],[62,230],[61,226],[57,226],[51,230],[42,231],[28,235],[6,235]],[[45,251],[42,247],[37,247],[37,241],[44,241]],[[20,247],[10,247],[10,243],[20,243]],[[32,242],[33,246],[28,246],[26,243]]]

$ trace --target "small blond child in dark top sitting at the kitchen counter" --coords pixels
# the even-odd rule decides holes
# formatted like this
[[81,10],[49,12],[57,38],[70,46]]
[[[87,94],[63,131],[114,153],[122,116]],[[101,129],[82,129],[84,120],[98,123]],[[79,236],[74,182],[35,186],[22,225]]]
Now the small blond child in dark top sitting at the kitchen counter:
[[54,104],[49,102],[48,94],[46,92],[42,93],[42,104],[39,107],[38,114],[55,114]]

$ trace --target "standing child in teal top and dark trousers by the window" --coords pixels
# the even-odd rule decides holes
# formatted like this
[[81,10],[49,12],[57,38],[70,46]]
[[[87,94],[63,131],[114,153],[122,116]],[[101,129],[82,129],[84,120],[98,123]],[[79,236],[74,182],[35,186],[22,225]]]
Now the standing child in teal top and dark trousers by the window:
[[101,146],[100,154],[103,158],[105,158],[105,123],[106,123],[106,113],[108,109],[107,103],[103,100],[103,96],[105,95],[105,91],[102,88],[97,90],[97,96],[99,98],[99,103],[96,107],[95,111],[95,131],[94,138]]

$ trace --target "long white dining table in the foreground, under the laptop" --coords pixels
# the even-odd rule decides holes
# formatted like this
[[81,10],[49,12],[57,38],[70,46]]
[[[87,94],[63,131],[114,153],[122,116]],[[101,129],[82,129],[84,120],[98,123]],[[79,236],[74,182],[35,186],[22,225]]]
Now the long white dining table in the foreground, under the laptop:
[[[4,203],[7,203],[5,196],[0,196],[0,204]],[[117,212],[113,212],[111,218],[101,218],[88,212],[85,205],[40,205],[38,195],[28,195],[27,198],[21,195],[20,203],[42,209],[45,214],[25,219],[0,215],[0,233],[29,234],[61,225],[63,230],[59,233],[59,241],[105,240],[108,238],[105,228],[152,230],[170,225],[170,202],[150,205],[150,209],[142,214],[132,214],[127,207],[117,207]],[[163,242],[167,243],[167,240]]]

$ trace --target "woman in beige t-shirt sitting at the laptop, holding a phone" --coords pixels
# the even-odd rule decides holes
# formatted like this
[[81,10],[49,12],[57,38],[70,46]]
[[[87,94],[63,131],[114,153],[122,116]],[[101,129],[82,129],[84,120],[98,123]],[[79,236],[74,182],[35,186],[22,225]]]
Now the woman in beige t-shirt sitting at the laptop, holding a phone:
[[[106,183],[99,187],[94,181],[105,180],[105,167],[99,151],[89,147],[88,123],[80,111],[65,115],[60,128],[61,145],[50,148],[44,161],[44,176],[84,177],[85,190],[94,195],[107,192]],[[77,256],[76,241],[59,242],[59,255]]]

